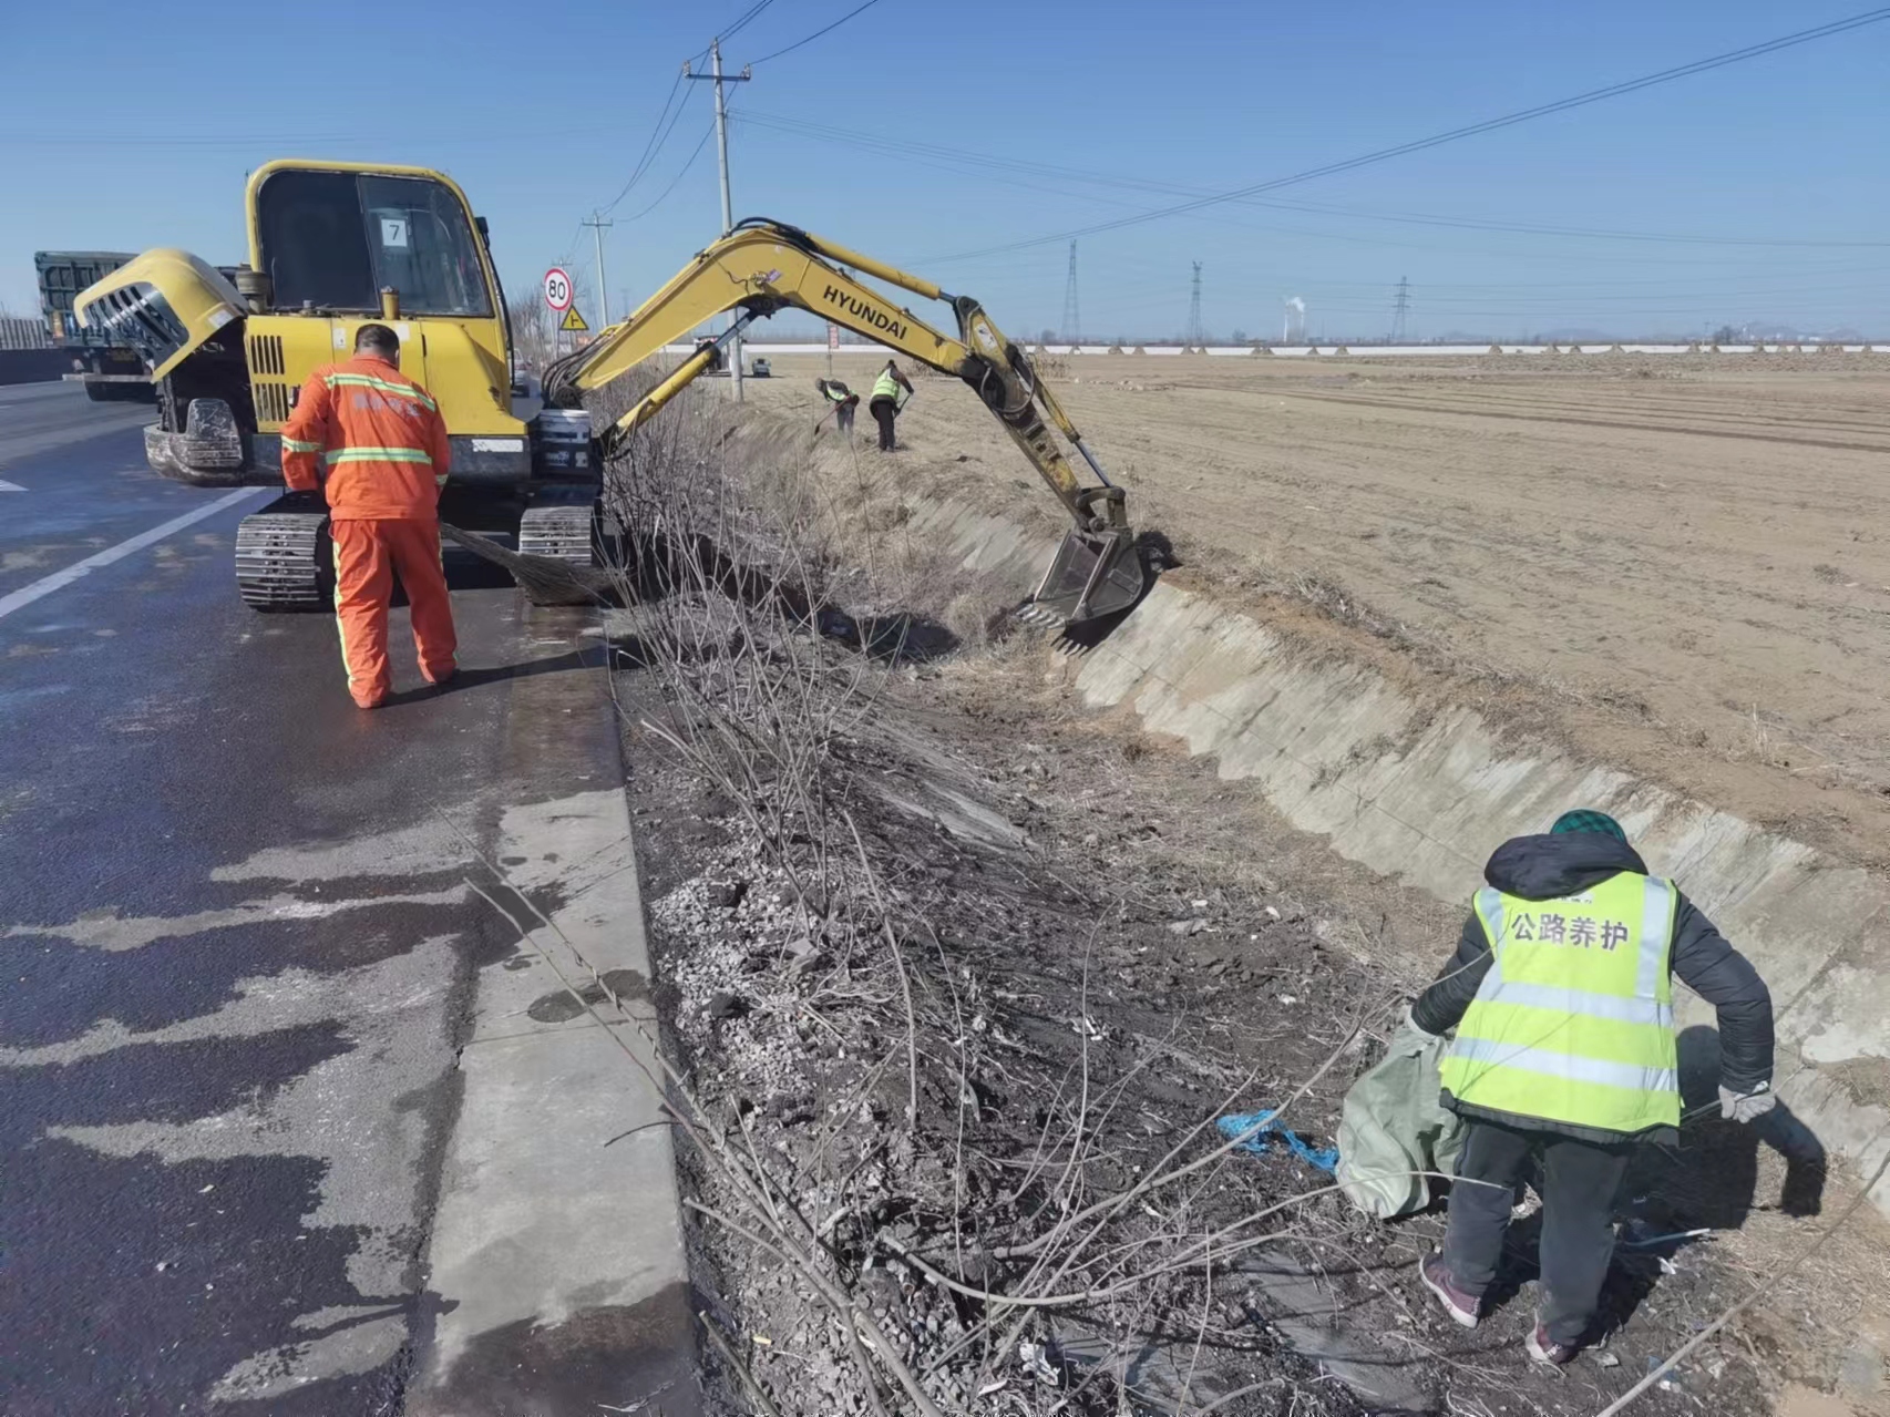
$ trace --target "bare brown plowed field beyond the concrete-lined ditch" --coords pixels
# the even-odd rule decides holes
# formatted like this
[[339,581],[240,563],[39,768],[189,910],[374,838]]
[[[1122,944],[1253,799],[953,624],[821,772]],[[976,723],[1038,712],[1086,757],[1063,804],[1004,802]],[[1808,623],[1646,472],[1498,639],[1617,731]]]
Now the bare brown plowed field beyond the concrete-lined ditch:
[[[875,363],[843,353],[837,374],[866,389]],[[775,359],[750,399],[813,419],[824,370]],[[1051,372],[1136,525],[1185,567],[1338,597],[1419,657],[1527,684],[1601,758],[1882,856],[1890,355],[1085,355]],[[896,465],[966,495],[1036,487],[951,382],[919,380],[900,442]],[[873,472],[864,408],[856,446]]]

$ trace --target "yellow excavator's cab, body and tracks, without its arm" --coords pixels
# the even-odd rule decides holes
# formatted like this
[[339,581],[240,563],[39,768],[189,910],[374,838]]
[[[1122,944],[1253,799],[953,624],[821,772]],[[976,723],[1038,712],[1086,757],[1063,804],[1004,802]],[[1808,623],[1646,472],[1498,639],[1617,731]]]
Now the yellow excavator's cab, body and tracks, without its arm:
[[[282,486],[282,425],[302,382],[370,321],[446,416],[440,514],[522,552],[592,559],[597,467],[582,412],[512,408],[512,336],[484,217],[440,172],[382,162],[266,162],[244,200],[248,261],[225,278],[187,251],[146,251],[74,299],[134,348],[157,385],[155,472],[195,486]],[[319,497],[287,493],[236,527],[236,586],[257,610],[327,610]]]

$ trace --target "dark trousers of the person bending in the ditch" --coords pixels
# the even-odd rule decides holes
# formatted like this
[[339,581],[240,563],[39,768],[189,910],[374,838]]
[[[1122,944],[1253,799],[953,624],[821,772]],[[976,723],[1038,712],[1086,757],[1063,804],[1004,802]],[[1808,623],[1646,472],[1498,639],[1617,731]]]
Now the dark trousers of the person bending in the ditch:
[[1450,1188],[1444,1266],[1452,1279],[1469,1294],[1482,1294],[1495,1281],[1514,1187],[1523,1164],[1537,1156],[1542,1164],[1538,1317],[1555,1343],[1580,1343],[1614,1256],[1614,1198],[1631,1154],[1633,1143],[1599,1147],[1555,1132],[1470,1122]]

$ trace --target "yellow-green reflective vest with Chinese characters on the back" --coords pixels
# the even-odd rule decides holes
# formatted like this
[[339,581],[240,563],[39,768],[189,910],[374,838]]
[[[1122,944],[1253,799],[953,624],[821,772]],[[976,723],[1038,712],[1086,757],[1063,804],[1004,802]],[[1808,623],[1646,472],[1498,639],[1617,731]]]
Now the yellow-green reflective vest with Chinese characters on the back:
[[1444,1056],[1457,1101],[1633,1135],[1680,1124],[1671,880],[1622,871],[1531,901],[1486,888],[1489,973]]

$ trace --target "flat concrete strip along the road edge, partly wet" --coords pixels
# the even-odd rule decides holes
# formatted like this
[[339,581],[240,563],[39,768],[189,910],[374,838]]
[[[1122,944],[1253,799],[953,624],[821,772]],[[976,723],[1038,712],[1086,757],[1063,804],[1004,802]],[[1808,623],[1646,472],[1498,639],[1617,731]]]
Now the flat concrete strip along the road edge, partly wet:
[[[571,627],[548,642],[569,644],[576,616],[527,623],[554,620]],[[476,973],[410,1417],[701,1409],[675,1151],[658,1088],[618,1047],[654,1069],[618,743],[603,667],[514,684],[499,767],[525,795],[503,809],[497,860],[552,926],[495,896],[529,941]],[[559,971],[592,982],[573,948],[639,1001],[648,1035],[571,999]]]

